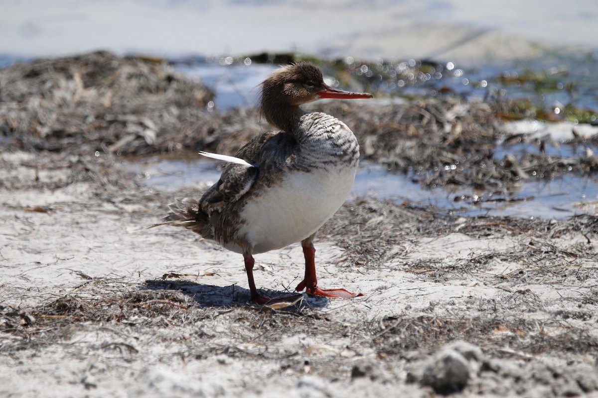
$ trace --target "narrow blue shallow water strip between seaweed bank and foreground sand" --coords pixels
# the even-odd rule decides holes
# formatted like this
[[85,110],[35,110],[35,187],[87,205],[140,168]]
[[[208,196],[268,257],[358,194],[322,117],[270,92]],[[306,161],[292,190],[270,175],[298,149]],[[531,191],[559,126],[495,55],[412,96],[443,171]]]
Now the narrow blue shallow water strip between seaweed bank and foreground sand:
[[[133,178],[150,189],[174,191],[186,187],[189,195],[193,195],[204,184],[215,183],[220,177],[216,162],[199,158],[181,160],[152,157],[124,161],[123,165]],[[467,187],[427,189],[411,181],[409,176],[391,174],[382,165],[362,162],[355,177],[352,195],[431,204],[453,214],[563,218],[581,213],[574,203],[598,200],[598,186],[595,181],[573,176],[552,181],[529,181],[521,184],[517,192],[508,193],[506,198],[509,200],[505,200],[505,196],[493,200]]]

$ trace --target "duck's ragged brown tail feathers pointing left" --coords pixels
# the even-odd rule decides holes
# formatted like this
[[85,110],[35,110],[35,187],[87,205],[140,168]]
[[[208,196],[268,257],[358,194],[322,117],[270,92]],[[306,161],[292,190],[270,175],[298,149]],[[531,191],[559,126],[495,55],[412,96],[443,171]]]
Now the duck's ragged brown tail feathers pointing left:
[[174,203],[168,205],[169,212],[159,223],[151,224],[147,228],[170,225],[184,227],[206,239],[213,239],[213,229],[208,214],[203,211],[196,199],[184,198],[175,199]]

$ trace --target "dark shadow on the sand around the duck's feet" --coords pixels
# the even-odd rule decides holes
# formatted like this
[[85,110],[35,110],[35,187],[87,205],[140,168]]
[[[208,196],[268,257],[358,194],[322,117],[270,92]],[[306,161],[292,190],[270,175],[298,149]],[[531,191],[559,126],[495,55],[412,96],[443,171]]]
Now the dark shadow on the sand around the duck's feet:
[[[201,307],[247,307],[255,306],[252,304],[249,289],[238,285],[215,286],[204,283],[191,282],[190,280],[170,280],[170,279],[149,279],[142,285],[142,289],[151,291],[179,291],[190,296]],[[285,297],[289,292],[264,291],[260,289],[261,294],[267,297]],[[290,293],[297,294],[297,293]],[[323,308],[328,306],[328,298],[322,296],[311,296],[303,294],[303,300],[296,304],[285,307],[285,310],[292,308]]]

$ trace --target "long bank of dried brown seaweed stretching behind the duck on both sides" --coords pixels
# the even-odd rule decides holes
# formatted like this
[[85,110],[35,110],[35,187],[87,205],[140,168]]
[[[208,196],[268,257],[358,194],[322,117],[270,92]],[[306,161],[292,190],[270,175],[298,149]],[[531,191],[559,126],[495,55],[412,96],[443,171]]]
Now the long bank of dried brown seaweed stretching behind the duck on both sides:
[[[87,156],[233,154],[269,129],[255,109],[208,112],[212,98],[200,82],[154,60],[97,52],[14,64],[0,70],[0,147]],[[346,122],[365,159],[426,186],[484,189],[500,200],[523,180],[598,171],[591,150],[554,155],[544,152],[550,140],[506,132],[502,115],[517,106],[502,97],[475,101],[444,95],[408,104],[332,101],[308,108]],[[595,145],[574,137],[572,146]],[[511,142],[522,141],[538,152],[503,154]]]

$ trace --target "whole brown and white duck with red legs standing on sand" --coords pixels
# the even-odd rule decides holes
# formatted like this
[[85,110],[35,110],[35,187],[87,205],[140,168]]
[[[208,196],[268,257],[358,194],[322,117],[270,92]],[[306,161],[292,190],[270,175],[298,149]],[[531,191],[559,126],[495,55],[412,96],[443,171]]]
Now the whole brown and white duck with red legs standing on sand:
[[[251,300],[271,305],[303,295],[267,297],[254,280],[254,255],[301,243],[303,280],[295,291],[350,299],[344,288],[321,288],[314,240],[350,195],[359,164],[357,138],[334,116],[304,112],[321,98],[372,98],[325,84],[312,63],[279,67],[261,84],[258,112],[273,127],[234,156],[200,152],[224,162],[222,174],[199,200],[177,199],[159,225],[184,227],[243,255]],[[158,225],[158,224],[155,224]]]

